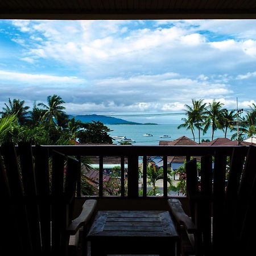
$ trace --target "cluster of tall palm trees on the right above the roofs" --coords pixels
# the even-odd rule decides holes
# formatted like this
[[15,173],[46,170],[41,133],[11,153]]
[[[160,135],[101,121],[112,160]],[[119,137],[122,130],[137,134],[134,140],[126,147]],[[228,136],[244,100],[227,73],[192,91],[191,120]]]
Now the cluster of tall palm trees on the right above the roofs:
[[[181,123],[177,129],[185,128],[191,130],[193,141],[195,141],[195,131],[198,132],[198,142],[201,142],[201,131],[203,134],[211,129],[212,140],[214,132],[222,130],[226,138],[228,130],[236,131],[231,139],[242,141],[247,137],[256,134],[256,105],[252,104],[249,109],[243,112],[228,110],[220,101],[213,100],[209,104],[204,103],[203,99],[192,99],[192,105],[184,105],[185,118],[181,118]],[[242,115],[243,113],[243,115]],[[239,134],[237,135],[237,127]]]

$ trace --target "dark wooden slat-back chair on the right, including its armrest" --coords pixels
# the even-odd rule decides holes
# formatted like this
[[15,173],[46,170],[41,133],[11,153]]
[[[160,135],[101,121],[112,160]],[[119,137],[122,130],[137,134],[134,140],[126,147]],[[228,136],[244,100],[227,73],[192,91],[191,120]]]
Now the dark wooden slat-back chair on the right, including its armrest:
[[201,158],[201,181],[196,160],[186,164],[191,216],[178,199],[169,199],[180,233],[181,255],[255,255],[256,147],[235,147],[226,180],[226,156]]

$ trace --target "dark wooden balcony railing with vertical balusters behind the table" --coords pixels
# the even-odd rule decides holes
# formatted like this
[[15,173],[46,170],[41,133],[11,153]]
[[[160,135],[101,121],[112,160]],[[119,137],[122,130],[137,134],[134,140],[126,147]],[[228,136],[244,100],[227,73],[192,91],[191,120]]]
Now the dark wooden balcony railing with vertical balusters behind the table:
[[[137,198],[139,196],[139,168],[138,159],[143,159],[143,197],[147,197],[147,157],[161,156],[163,159],[163,197],[168,197],[167,183],[167,156],[185,156],[189,160],[193,156],[203,155],[223,155],[232,156],[234,147],[241,146],[43,146],[49,150],[57,150],[65,155],[76,156],[81,161],[81,156],[98,156],[99,158],[99,195],[104,197],[104,158],[107,156],[117,156],[121,164],[121,197],[125,197],[125,159],[127,159],[127,197]],[[246,154],[247,147],[241,147],[242,154]],[[80,174],[81,175],[81,174]],[[81,184],[77,184],[77,195],[81,196]]]

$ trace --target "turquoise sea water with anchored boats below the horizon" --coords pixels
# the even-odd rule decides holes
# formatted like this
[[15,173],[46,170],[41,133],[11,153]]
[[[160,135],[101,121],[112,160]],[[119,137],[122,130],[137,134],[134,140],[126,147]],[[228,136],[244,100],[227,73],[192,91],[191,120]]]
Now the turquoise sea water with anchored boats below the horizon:
[[[134,145],[158,145],[159,141],[173,141],[181,136],[187,136],[193,139],[190,130],[177,129],[179,125],[106,125],[112,131],[109,135],[112,136],[125,136],[128,139],[133,139]],[[152,137],[144,137],[143,134],[152,134]],[[228,131],[227,138],[231,138],[233,133]],[[160,138],[162,135],[168,135],[167,138]],[[198,133],[195,131],[196,142],[198,142]],[[217,130],[214,132],[214,139],[224,137],[224,132]],[[207,134],[200,134],[200,139],[212,139],[211,129],[209,128]],[[113,143],[117,144],[116,141]]]

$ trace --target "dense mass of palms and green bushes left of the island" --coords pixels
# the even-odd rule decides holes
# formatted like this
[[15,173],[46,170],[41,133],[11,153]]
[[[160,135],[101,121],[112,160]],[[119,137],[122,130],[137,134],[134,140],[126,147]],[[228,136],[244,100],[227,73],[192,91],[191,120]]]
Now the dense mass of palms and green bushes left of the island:
[[32,144],[112,143],[110,129],[101,122],[82,123],[64,112],[65,101],[56,94],[46,104],[34,102],[32,110],[23,100],[5,104],[0,118],[0,144],[19,141]]

